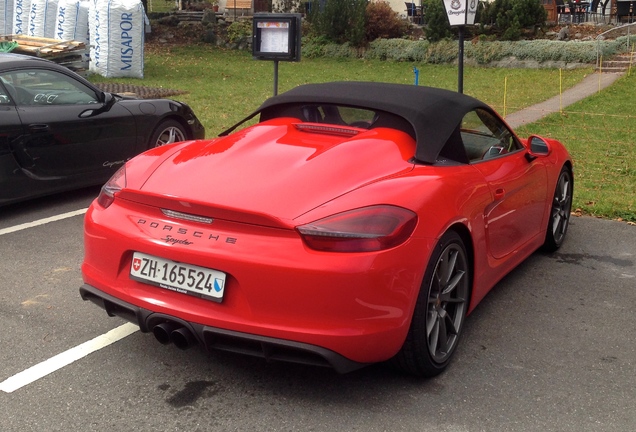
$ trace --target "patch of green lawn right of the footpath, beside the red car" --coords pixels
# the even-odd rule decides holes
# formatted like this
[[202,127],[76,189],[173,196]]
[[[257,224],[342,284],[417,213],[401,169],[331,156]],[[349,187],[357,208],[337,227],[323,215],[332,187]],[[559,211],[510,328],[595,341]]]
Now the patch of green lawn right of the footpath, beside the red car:
[[574,208],[636,222],[636,76],[519,130],[563,142],[574,159]]

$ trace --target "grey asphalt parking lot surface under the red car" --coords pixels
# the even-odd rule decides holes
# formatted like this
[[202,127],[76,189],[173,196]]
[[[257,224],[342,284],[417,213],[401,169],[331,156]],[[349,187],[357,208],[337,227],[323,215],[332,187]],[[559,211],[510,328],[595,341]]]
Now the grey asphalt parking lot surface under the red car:
[[[634,226],[573,218],[558,253],[534,254],[479,305],[433,380],[179,351],[138,331],[66,364],[58,354],[124,325],[78,293],[96,193],[0,209],[3,432],[636,430]],[[26,384],[7,391],[15,377]]]

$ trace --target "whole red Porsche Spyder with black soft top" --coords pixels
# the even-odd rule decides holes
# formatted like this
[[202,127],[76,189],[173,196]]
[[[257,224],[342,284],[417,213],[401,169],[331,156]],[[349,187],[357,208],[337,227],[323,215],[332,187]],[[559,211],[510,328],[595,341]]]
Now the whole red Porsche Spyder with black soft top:
[[84,300],[179,348],[434,376],[486,293],[564,240],[568,152],[474,98],[311,84],[257,116],[149,150],[104,185]]

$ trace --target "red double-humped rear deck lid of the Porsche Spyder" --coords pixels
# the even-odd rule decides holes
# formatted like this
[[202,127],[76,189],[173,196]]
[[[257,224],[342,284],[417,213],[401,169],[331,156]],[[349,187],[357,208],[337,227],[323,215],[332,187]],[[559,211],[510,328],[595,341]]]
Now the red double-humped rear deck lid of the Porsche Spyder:
[[289,223],[351,190],[413,169],[408,160],[415,145],[402,132],[361,130],[343,137],[280,123],[169,153],[141,191]]

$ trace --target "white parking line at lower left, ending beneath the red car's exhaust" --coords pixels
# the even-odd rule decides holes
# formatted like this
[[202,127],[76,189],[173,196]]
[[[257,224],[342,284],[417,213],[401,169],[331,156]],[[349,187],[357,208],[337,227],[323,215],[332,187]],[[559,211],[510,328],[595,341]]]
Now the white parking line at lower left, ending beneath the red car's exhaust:
[[42,363],[36,364],[29,369],[7,378],[0,383],[0,390],[5,393],[11,393],[25,385],[31,384],[32,382],[45,377],[52,372],[55,372],[58,369],[63,368],[64,366],[68,366],[76,360],[86,357],[94,351],[107,347],[126,336],[130,336],[138,330],[139,327],[131,323],[121,325],[106,334],[98,336],[95,339],[91,339],[88,342],[84,342],[75,348],[64,351],[55,357],[51,357]]

